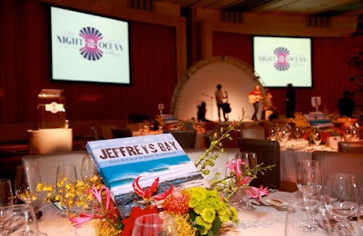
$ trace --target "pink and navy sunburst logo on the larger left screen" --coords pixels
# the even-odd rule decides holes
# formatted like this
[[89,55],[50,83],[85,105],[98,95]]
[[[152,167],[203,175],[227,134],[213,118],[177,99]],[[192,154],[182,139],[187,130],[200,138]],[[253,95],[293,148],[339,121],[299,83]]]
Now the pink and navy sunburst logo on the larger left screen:
[[84,40],[84,46],[80,49],[83,57],[90,61],[99,60],[103,56],[103,51],[98,48],[98,41],[103,39],[100,31],[93,27],[83,27],[79,34]]

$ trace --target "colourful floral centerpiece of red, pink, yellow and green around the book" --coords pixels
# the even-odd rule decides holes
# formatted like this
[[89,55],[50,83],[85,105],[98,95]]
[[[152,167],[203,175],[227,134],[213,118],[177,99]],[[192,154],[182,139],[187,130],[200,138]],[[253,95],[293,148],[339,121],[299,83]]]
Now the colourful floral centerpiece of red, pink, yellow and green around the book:
[[[242,120],[232,123],[227,130],[221,129],[221,135],[211,142],[211,146],[201,154],[195,163],[204,174],[209,174],[209,167],[214,165],[218,154],[215,149],[223,152],[221,141],[231,139],[231,131],[240,127]],[[152,182],[151,186],[141,186],[142,176],[132,182],[133,191],[139,196],[132,207],[130,215],[121,219],[114,205],[110,190],[103,185],[99,176],[92,176],[89,180],[74,182],[57,182],[57,193],[54,195],[54,187],[39,183],[38,191],[47,192],[46,200],[58,202],[68,211],[76,206],[79,211],[69,211],[68,218],[74,223],[76,229],[84,222],[94,221],[97,235],[131,235],[135,219],[143,214],[164,211],[173,216],[178,235],[216,235],[223,224],[237,224],[239,222],[236,209],[230,205],[229,198],[243,185],[246,180],[241,177],[240,165],[243,162],[230,162],[226,168],[230,172],[223,179],[211,182],[210,188],[191,187],[187,189],[173,188],[160,194],[155,194],[159,187],[159,178]],[[272,166],[263,167],[257,165],[259,172],[270,170]],[[216,173],[218,177],[220,173]],[[255,177],[255,176],[253,176]],[[66,177],[64,177],[66,178]],[[246,177],[250,178],[250,177]],[[250,195],[260,199],[261,195],[268,194],[268,187],[251,187]],[[223,197],[224,196],[224,197]],[[77,231],[75,231],[77,232]]]

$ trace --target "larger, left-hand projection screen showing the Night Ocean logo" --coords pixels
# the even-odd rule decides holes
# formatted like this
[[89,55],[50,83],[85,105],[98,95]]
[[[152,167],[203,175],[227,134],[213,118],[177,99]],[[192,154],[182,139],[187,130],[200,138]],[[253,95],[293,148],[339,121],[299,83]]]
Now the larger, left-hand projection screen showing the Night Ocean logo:
[[128,22],[50,7],[52,79],[131,84]]

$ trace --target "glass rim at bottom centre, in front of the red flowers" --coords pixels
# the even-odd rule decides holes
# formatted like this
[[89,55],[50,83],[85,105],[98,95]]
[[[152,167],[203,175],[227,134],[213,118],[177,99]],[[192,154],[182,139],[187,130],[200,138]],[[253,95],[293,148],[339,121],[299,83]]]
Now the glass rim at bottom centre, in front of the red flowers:
[[132,236],[176,236],[174,219],[166,213],[145,214],[135,220]]

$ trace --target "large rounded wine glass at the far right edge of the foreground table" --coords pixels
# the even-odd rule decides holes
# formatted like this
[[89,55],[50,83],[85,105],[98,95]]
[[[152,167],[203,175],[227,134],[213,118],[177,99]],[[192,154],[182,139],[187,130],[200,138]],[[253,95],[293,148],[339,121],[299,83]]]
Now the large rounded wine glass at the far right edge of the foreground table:
[[356,176],[348,173],[330,173],[325,196],[325,207],[336,220],[333,229],[340,235],[356,235],[358,232],[349,219],[358,211]]

